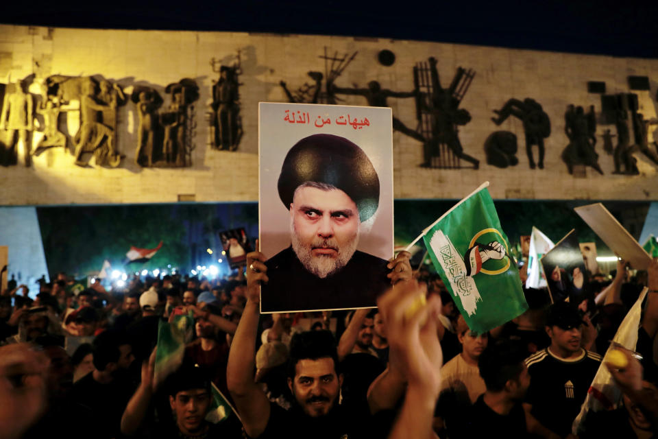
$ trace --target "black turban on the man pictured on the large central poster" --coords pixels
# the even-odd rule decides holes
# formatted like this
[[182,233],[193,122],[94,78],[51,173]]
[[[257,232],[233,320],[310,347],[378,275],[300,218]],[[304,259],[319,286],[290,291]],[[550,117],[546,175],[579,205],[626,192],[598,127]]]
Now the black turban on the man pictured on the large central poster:
[[379,178],[360,147],[332,134],[313,134],[291,147],[281,167],[278,189],[290,209],[295,189],[305,182],[332,185],[348,194],[361,222],[379,206]]

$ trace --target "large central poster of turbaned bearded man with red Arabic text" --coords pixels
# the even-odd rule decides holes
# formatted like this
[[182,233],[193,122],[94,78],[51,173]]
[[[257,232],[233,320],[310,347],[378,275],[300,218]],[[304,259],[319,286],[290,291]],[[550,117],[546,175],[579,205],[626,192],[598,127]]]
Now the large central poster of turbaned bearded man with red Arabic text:
[[391,108],[260,103],[258,158],[260,311],[376,307],[391,286]]

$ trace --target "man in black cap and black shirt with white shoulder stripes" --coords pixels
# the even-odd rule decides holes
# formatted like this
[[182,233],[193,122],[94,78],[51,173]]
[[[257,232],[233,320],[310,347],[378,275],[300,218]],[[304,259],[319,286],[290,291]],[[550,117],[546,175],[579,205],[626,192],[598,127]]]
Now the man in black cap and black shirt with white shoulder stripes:
[[550,346],[525,361],[531,384],[524,409],[539,423],[528,425],[535,434],[568,435],[585,401],[601,357],[581,347],[583,324],[578,309],[568,302],[551,305],[546,316]]

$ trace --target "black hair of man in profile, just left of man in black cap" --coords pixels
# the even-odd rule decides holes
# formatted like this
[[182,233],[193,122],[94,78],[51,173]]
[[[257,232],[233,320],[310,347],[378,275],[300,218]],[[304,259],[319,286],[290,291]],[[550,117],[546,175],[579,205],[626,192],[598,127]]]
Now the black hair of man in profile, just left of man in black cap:
[[478,359],[480,377],[489,392],[500,392],[510,379],[515,380],[523,372],[526,351],[517,343],[501,340],[489,344]]

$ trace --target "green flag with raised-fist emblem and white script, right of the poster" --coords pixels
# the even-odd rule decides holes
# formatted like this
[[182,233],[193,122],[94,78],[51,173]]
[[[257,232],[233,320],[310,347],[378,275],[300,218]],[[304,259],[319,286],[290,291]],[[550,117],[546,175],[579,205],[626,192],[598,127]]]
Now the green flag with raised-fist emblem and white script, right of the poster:
[[422,234],[437,272],[476,333],[528,309],[488,185],[455,204]]

